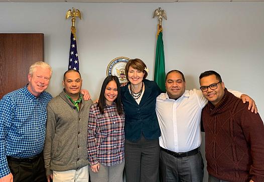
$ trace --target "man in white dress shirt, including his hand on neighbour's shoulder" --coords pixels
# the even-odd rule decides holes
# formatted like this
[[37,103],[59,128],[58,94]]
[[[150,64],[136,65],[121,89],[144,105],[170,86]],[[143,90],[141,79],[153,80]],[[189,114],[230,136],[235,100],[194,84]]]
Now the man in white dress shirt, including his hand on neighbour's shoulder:
[[[184,75],[172,70],[166,75],[166,91],[157,97],[160,137],[160,174],[162,181],[203,181],[201,145],[201,112],[207,104],[201,90],[185,90]],[[243,102],[254,102],[248,96],[232,91]]]

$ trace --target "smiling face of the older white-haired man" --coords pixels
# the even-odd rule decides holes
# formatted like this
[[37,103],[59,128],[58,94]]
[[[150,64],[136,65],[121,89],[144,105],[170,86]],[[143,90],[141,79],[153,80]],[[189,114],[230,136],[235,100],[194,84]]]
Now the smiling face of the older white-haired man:
[[28,89],[35,97],[44,92],[48,88],[51,77],[51,70],[37,66],[32,74],[28,74]]

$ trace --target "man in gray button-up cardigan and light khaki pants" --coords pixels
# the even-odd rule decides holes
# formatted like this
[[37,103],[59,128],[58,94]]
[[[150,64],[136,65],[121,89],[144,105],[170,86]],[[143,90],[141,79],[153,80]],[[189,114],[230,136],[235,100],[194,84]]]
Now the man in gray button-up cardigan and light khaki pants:
[[79,71],[64,73],[64,89],[47,106],[44,162],[48,181],[88,181],[87,126],[91,100],[80,94]]

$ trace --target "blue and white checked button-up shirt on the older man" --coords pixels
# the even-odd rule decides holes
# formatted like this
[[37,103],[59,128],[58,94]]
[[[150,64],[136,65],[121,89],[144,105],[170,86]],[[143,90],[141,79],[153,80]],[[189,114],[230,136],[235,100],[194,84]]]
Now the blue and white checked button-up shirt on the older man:
[[26,85],[0,101],[0,178],[10,173],[7,155],[27,158],[43,150],[51,99],[47,92],[36,98]]

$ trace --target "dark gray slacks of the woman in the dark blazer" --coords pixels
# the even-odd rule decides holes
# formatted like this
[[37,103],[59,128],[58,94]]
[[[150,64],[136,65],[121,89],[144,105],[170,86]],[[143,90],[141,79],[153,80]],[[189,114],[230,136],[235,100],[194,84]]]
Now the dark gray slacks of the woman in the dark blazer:
[[159,173],[159,139],[141,139],[132,142],[125,140],[125,181],[156,182]]

